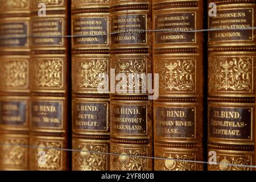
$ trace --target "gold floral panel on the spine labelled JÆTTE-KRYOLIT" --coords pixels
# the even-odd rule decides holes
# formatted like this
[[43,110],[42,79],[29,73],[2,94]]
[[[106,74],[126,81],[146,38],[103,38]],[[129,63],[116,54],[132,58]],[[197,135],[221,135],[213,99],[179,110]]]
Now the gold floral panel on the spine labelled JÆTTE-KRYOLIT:
[[100,73],[108,74],[108,59],[75,59],[72,73],[75,90],[97,90]]

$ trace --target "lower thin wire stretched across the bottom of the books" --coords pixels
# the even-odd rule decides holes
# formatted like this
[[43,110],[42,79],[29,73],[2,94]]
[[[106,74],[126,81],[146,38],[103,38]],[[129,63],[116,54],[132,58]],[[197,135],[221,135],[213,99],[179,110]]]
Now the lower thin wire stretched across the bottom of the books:
[[55,148],[55,147],[42,147],[42,146],[30,146],[30,145],[23,145],[23,144],[6,144],[0,143],[0,146],[19,146],[19,147],[26,147],[26,148],[40,148],[46,150],[59,150],[59,151],[72,151],[72,152],[88,152],[92,154],[104,154],[104,155],[119,155],[119,156],[129,156],[129,157],[136,157],[136,158],[146,158],[146,159],[160,159],[160,160],[173,160],[179,162],[188,162],[188,163],[199,163],[199,164],[211,164],[211,165],[221,165],[221,166],[235,166],[235,167],[246,167],[246,168],[256,168],[256,166],[250,165],[243,165],[243,164],[228,164],[228,163],[210,163],[198,160],[183,160],[183,159],[171,159],[171,158],[158,158],[158,157],[151,157],[151,156],[141,156],[141,155],[129,155],[129,154],[117,154],[117,153],[110,153],[110,152],[97,152],[97,151],[86,151],[86,150],[78,150],[78,149],[70,149],[70,148]]

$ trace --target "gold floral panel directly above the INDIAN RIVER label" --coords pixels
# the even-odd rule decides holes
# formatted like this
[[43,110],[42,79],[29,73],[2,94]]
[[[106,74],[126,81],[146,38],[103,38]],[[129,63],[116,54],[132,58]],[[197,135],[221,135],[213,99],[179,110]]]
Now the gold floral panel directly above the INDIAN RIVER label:
[[[195,92],[196,60],[159,60],[156,73],[160,73],[159,89],[162,92]],[[164,74],[163,74],[164,73]]]

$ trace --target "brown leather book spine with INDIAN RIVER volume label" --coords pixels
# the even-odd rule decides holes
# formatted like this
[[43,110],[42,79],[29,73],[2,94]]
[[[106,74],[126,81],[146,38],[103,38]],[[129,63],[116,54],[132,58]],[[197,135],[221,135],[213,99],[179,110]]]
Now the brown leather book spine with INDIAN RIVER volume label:
[[202,170],[193,161],[203,161],[203,34],[192,31],[203,29],[203,0],[153,1],[152,16],[153,72],[159,74],[154,155],[170,159],[155,159],[154,167]]

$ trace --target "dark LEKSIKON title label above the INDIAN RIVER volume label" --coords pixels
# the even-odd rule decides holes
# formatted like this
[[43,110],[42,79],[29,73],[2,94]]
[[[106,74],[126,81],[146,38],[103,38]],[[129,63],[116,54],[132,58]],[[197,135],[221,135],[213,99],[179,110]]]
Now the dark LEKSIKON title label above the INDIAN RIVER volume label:
[[155,43],[194,43],[196,13],[168,13],[155,15]]

